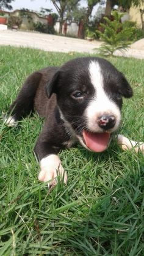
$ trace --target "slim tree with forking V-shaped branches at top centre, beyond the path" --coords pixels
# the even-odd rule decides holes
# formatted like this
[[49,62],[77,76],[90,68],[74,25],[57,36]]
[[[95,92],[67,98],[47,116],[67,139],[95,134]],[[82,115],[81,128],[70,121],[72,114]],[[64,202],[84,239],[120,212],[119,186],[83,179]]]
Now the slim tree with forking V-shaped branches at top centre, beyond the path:
[[77,7],[80,0],[51,0],[52,4],[59,13],[59,34],[62,34],[62,26],[64,20],[67,20],[71,16],[71,12]]

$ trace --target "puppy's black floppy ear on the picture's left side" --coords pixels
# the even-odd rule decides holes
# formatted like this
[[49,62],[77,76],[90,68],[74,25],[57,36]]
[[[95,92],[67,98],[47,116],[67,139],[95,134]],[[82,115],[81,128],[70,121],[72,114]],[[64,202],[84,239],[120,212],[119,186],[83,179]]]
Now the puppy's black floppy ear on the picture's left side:
[[52,93],[57,92],[57,84],[59,81],[59,76],[60,76],[60,71],[58,70],[56,71],[54,76],[52,76],[52,79],[48,82],[48,84],[46,84],[46,94],[48,98],[51,97]]

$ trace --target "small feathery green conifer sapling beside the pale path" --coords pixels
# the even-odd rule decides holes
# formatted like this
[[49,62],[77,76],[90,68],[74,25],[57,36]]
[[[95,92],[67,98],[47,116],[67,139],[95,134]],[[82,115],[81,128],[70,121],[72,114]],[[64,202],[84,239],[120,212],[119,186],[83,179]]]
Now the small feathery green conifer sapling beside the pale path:
[[125,50],[130,45],[132,36],[134,35],[133,27],[126,26],[124,23],[121,23],[123,13],[114,11],[112,15],[113,21],[104,17],[106,24],[101,23],[101,27],[104,32],[96,31],[104,42],[99,48],[99,53],[103,55],[112,55],[117,49],[120,49],[121,51]]

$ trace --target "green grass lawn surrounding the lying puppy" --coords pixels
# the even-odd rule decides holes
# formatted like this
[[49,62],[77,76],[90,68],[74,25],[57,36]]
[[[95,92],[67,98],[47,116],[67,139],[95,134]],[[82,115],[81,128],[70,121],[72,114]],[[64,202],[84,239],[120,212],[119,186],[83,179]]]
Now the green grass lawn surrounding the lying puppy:
[[[60,153],[68,185],[51,192],[37,180],[32,150],[43,120],[34,115],[18,128],[2,115],[24,79],[47,65],[81,54],[0,48],[0,255],[144,255],[144,158],[115,142],[103,153],[80,145]],[[84,55],[83,55],[84,56]],[[134,89],[124,100],[121,133],[144,141],[144,60],[110,58]]]

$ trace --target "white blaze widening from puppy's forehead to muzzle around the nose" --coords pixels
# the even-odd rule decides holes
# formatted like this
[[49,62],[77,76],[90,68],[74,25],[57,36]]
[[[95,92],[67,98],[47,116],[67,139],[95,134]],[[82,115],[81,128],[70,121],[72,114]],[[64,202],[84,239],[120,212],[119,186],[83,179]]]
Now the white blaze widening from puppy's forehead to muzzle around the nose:
[[92,95],[92,100],[88,104],[87,109],[85,109],[88,129],[93,132],[101,131],[96,120],[103,114],[109,114],[114,115],[116,119],[112,131],[117,130],[121,118],[120,109],[104,91],[103,73],[98,62],[90,62],[89,73],[95,93]]

